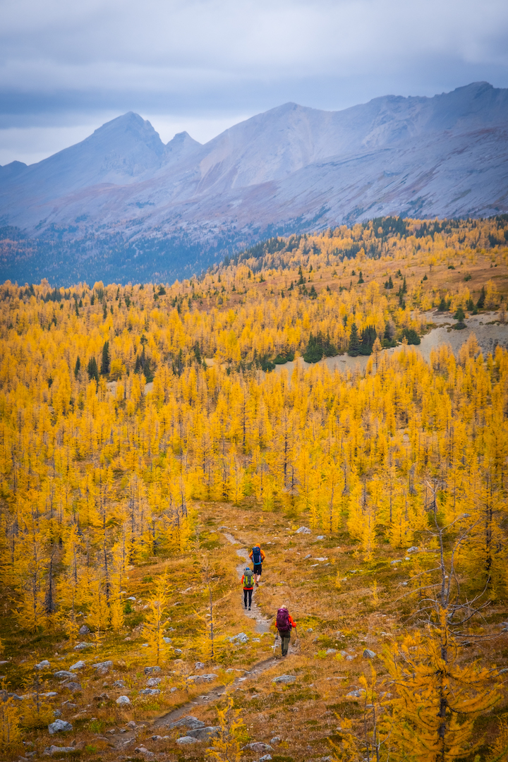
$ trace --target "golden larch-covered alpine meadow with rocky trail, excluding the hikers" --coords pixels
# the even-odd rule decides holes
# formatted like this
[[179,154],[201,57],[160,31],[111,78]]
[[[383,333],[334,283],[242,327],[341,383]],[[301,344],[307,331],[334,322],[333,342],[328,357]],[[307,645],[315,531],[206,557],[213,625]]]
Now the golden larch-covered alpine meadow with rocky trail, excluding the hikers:
[[507,301],[506,214],[3,283],[2,760],[506,762]]

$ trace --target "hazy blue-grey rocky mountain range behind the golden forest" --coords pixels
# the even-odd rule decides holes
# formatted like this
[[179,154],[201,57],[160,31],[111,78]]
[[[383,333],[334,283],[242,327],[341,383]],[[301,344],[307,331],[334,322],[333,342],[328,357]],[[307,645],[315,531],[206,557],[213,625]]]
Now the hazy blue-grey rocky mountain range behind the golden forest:
[[0,167],[0,277],[171,280],[276,233],[508,211],[508,89],[288,103],[201,145],[129,112]]

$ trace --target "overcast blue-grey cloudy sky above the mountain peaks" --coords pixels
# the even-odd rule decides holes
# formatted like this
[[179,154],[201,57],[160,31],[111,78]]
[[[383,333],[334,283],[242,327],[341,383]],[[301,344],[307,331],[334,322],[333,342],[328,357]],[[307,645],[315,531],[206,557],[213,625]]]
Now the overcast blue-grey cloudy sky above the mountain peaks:
[[286,103],[508,87],[506,0],[0,0],[0,165],[136,111],[206,142]]

